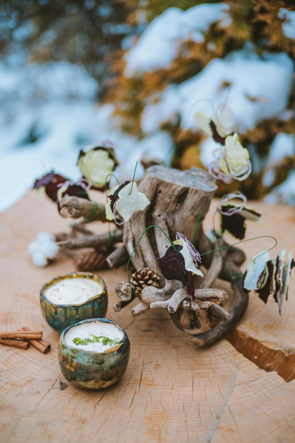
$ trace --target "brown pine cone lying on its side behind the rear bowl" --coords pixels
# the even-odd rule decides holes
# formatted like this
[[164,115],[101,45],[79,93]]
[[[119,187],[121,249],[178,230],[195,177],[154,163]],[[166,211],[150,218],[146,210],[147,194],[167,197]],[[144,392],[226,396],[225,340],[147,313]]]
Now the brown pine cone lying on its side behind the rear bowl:
[[84,252],[74,258],[74,264],[77,271],[88,272],[99,269],[107,269],[106,258],[110,255],[113,249],[102,246],[100,249],[93,249],[92,251]]

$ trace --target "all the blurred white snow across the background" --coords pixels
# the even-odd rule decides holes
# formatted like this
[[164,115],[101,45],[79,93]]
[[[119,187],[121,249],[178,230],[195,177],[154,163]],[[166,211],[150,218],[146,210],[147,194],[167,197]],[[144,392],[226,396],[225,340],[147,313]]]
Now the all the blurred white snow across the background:
[[[212,23],[218,22],[221,29],[229,26],[227,10],[224,3],[200,4],[186,11],[168,8],[150,23],[143,18],[141,26],[120,43],[125,77],[140,77],[170,66],[182,42],[190,39],[202,43]],[[280,15],[284,34],[295,39],[295,12],[281,8]],[[34,179],[51,169],[78,179],[77,156],[87,144],[111,140],[120,161],[116,175],[123,180],[132,178],[135,163],[144,152],[170,163],[174,140],[163,128],[167,122],[173,124],[177,116],[182,128],[197,131],[195,112],[210,115],[216,105],[226,101],[242,134],[262,120],[279,117],[284,121],[293,116],[287,105],[294,82],[294,61],[282,51],[257,54],[249,42],[224,58],[211,59],[191,78],[153,94],[142,109],[142,136],[138,137],[123,131],[122,119],[113,116],[114,103],[100,103],[100,82],[82,63],[32,60],[30,51],[19,45],[27,32],[30,29],[26,27],[15,28],[10,37],[13,44],[0,62],[0,210],[22,198]],[[214,51],[214,45],[209,42],[208,51]],[[230,83],[230,93],[221,88],[224,82]],[[212,140],[200,144],[204,166],[212,160],[215,148]],[[271,188],[274,168],[286,156],[294,158],[295,136],[279,132],[268,155],[262,157],[251,146],[249,151],[253,171],[263,168],[263,184]],[[142,174],[139,165],[136,178]],[[265,200],[295,203],[294,169]]]

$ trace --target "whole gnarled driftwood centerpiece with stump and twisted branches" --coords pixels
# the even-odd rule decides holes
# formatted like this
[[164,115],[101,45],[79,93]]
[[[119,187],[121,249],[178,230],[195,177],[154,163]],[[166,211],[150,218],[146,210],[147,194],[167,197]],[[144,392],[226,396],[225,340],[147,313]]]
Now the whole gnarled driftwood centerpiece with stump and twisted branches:
[[[165,255],[170,243],[160,229],[151,227],[139,242],[131,262],[135,269],[153,269],[159,276],[160,288],[144,285],[138,295],[139,303],[131,309],[131,313],[138,316],[149,309],[165,308],[175,325],[190,335],[192,342],[200,347],[208,346],[222,338],[237,323],[248,304],[248,294],[242,289],[242,275],[239,270],[245,260],[244,253],[233,247],[208,253],[226,245],[221,239],[218,244],[211,243],[203,233],[202,220],[216,190],[215,180],[206,171],[197,168],[179,171],[154,165],[146,170],[138,190],[146,194],[151,203],[145,210],[135,212],[130,221],[124,223],[124,246],[111,253],[107,262],[113,268],[126,263],[143,231],[152,225],[163,229],[172,241],[175,240],[176,232],[191,238],[202,209],[192,243],[201,255],[207,253],[202,258],[207,273],[203,279],[195,277],[199,288],[195,290],[194,296],[188,295],[180,281],[166,280],[163,276],[159,259]],[[121,232],[116,233],[116,241],[121,240]],[[93,245],[105,245],[107,238],[105,234],[85,236],[80,237],[79,242],[60,242],[60,245],[69,249],[90,247],[92,241]],[[218,276],[230,281],[234,289],[234,303],[229,312],[223,309],[227,302],[226,292],[210,288]],[[119,282],[116,292],[122,300],[115,303],[114,309],[120,311],[134,299],[134,295],[127,282]],[[214,319],[220,320],[216,326],[213,326],[216,324]]]

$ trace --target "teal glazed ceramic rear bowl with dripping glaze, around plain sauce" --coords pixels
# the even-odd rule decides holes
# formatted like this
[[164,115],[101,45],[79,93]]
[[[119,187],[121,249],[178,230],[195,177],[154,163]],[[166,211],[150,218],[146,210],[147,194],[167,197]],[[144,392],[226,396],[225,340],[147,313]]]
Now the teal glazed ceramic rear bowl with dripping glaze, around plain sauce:
[[[54,304],[46,298],[44,292],[55,283],[65,279],[84,278],[100,283],[102,291],[81,304]],[[55,277],[41,288],[40,305],[44,319],[57,332],[62,332],[80,320],[103,318],[107,312],[107,288],[103,279],[92,272],[72,272]]]

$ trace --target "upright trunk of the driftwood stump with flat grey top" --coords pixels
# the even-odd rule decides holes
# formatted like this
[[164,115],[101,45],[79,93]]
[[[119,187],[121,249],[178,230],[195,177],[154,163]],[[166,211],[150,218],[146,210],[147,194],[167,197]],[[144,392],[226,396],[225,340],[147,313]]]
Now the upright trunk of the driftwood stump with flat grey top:
[[[203,210],[200,221],[207,214],[216,185],[211,175],[201,169],[179,171],[155,165],[146,171],[138,190],[144,192],[151,203],[124,223],[123,241],[129,254],[150,225],[160,226],[172,240],[175,240],[176,232],[191,238],[200,210]],[[201,223],[194,239],[198,238],[200,226]],[[153,269],[161,276],[161,284],[164,286],[165,279],[158,260],[169,246],[169,241],[160,229],[150,228],[131,258],[134,268]]]

